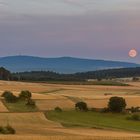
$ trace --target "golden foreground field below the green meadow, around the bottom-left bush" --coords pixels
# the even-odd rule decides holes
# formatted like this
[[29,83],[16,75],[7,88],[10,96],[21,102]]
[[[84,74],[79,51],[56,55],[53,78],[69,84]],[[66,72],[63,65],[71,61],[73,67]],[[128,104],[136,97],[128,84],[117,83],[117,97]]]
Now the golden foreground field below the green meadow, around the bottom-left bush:
[[[1,113],[0,114],[0,125],[6,125],[7,123],[12,125],[17,134],[15,136],[10,136],[10,140],[22,140],[27,137],[27,140],[36,140],[42,138],[43,140],[55,140],[55,138],[66,140],[68,136],[69,139],[76,138],[78,140],[83,140],[89,137],[93,140],[96,137],[138,137],[140,134],[132,132],[120,132],[111,130],[100,130],[100,129],[86,129],[86,128],[63,128],[59,123],[49,121],[45,118],[43,113]],[[23,135],[25,135],[23,137]],[[42,136],[40,136],[42,135]],[[77,136],[84,137],[77,137]],[[54,136],[54,137],[45,137]],[[70,137],[71,136],[71,137]],[[0,136],[0,140],[8,140],[9,136]],[[69,140],[68,139],[68,140]],[[100,140],[100,139],[99,139]],[[110,139],[112,140],[112,139]]]

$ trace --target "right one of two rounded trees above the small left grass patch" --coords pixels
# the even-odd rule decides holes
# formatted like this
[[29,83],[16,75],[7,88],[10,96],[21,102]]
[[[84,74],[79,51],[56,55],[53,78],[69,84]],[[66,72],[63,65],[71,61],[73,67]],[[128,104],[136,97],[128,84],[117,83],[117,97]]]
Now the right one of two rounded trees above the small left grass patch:
[[22,100],[28,100],[32,97],[32,93],[28,90],[24,90],[24,91],[21,91],[21,93],[19,94],[19,99],[22,99]]

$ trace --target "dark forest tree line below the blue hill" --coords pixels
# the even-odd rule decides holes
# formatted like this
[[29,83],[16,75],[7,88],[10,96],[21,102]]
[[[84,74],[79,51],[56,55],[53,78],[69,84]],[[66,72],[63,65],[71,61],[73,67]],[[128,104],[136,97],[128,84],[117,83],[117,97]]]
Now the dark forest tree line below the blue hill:
[[[125,77],[140,77],[140,67],[60,74],[52,71],[31,71],[11,73],[0,67],[0,80],[14,81],[85,81],[87,79],[112,79]],[[136,79],[136,78],[134,78]]]

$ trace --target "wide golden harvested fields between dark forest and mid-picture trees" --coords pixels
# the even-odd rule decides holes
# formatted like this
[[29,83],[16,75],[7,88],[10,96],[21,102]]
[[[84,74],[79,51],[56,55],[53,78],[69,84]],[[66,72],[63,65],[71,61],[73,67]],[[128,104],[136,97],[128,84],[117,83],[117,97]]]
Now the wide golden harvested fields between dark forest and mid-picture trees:
[[140,82],[128,84],[132,86],[60,85],[0,81],[0,93],[10,90],[18,95],[21,90],[30,90],[33,93],[32,98],[38,100],[37,106],[43,110],[46,108],[54,109],[56,106],[64,107],[64,105],[65,108],[73,108],[72,100],[70,101],[66,97],[84,100],[89,107],[98,108],[107,106],[110,97],[121,96],[126,99],[128,107],[140,106]]

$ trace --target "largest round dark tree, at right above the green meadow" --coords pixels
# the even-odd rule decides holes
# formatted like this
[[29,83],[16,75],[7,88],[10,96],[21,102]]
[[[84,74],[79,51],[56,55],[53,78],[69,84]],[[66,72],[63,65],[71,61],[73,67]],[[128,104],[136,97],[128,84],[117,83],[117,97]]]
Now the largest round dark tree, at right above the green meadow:
[[122,97],[111,97],[108,108],[111,112],[123,112],[126,107],[125,99]]

